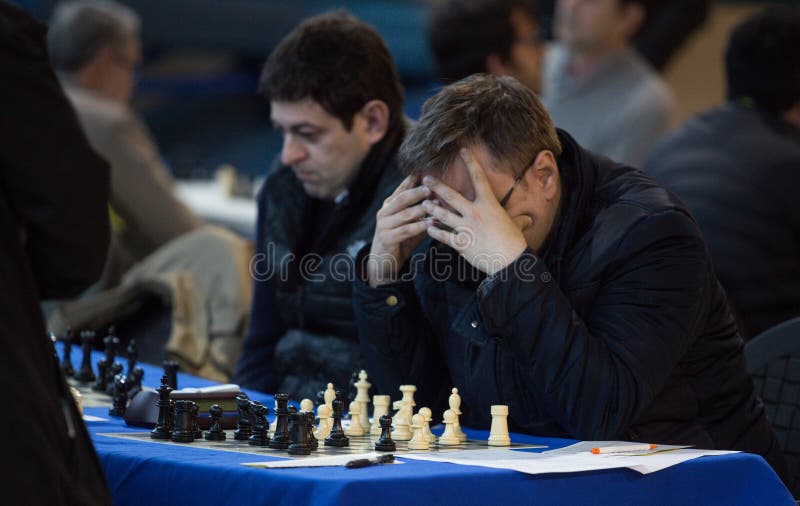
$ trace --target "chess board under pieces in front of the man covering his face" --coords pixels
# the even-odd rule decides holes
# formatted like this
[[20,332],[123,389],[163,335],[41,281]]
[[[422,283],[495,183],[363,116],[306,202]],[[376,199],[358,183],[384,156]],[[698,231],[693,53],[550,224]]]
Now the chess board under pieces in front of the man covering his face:
[[[233,439],[233,431],[226,431],[228,439],[225,441],[206,441],[205,439],[195,439],[192,443],[176,443],[170,440],[153,439],[150,437],[150,432],[123,432],[123,433],[103,433],[101,436],[114,437],[120,439],[128,439],[133,441],[150,442],[154,444],[167,444],[177,445],[183,447],[205,448],[208,450],[220,450],[226,452],[248,453],[251,455],[258,455],[259,457],[283,457],[294,459],[313,459],[319,457],[331,457],[334,455],[346,455],[356,453],[368,453],[375,451],[375,441],[377,436],[349,436],[350,446],[345,448],[335,448],[332,446],[325,446],[322,441],[319,443],[319,448],[312,451],[311,455],[289,455],[286,450],[273,450],[268,446],[251,446],[247,441],[237,441]],[[409,453],[412,450],[408,449],[408,441],[395,441],[397,450],[394,452],[387,452],[393,454]],[[430,450],[422,450],[425,453],[442,453],[442,452],[456,452],[461,450],[477,450],[477,449],[496,449],[496,446],[489,446],[486,441],[467,440],[458,446],[445,446],[438,443],[431,443]],[[536,448],[534,445],[522,445],[512,443],[507,448]],[[421,450],[414,450],[419,453]]]

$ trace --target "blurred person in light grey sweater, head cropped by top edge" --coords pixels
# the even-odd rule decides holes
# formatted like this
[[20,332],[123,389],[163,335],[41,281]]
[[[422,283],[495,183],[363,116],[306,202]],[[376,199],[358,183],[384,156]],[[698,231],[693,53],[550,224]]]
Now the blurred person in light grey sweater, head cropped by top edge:
[[641,167],[667,131],[675,99],[631,47],[647,19],[645,0],[559,0],[542,102],[582,146]]

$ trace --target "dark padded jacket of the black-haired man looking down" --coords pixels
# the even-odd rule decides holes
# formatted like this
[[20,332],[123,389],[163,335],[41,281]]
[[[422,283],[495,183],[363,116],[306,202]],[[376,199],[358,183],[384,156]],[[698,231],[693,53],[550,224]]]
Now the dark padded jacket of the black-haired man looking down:
[[404,132],[398,122],[370,150],[338,204],[309,197],[290,167],[267,178],[258,195],[251,321],[234,378],[240,385],[270,393],[284,386],[308,397],[329,381],[344,389],[361,367],[353,257],[372,240],[375,213],[400,184],[395,155]]

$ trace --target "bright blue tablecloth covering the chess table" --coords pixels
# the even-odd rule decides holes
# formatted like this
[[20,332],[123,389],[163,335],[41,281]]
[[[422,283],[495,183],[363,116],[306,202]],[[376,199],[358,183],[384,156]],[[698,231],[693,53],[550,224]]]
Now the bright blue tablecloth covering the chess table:
[[[101,357],[95,354],[94,361]],[[78,364],[79,352],[74,354]],[[143,366],[145,384],[161,371]],[[179,387],[212,382],[179,374]],[[272,397],[247,392],[272,406]],[[531,476],[515,471],[408,460],[403,465],[350,470],[343,467],[256,469],[242,462],[268,460],[252,454],[165,445],[103,436],[143,431],[108,416],[107,408],[85,414],[117,505],[178,506],[257,504],[725,504],[794,505],[788,490],[760,456],[738,453],[702,457],[649,475],[628,469]],[[472,439],[487,431],[465,429]],[[512,434],[515,443],[557,448],[571,440]]]

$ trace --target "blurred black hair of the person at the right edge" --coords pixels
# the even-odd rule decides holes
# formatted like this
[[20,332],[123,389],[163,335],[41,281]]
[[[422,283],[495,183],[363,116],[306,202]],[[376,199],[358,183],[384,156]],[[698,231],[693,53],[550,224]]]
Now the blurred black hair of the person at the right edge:
[[745,20],[725,52],[728,98],[779,114],[800,101],[800,9],[773,7]]

